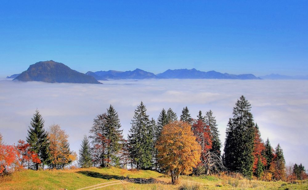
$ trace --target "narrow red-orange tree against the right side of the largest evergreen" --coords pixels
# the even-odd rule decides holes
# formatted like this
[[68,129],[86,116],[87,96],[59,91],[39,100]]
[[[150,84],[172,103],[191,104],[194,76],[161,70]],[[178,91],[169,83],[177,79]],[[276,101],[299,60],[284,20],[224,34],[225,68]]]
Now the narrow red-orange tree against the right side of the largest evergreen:
[[[263,140],[261,139],[261,133],[259,131],[259,127],[258,127],[257,124],[255,126],[254,134],[255,134],[254,141],[253,141],[253,158],[254,158],[254,161],[253,161],[252,169],[253,169],[253,174],[256,177],[260,177],[260,176],[257,176],[257,175],[259,175],[259,171],[256,172],[256,169],[258,167],[258,163],[260,161],[264,166],[266,166],[267,160],[263,156],[263,152],[265,151],[265,146],[264,146],[264,143],[262,142]],[[264,168],[262,168],[262,171],[263,171],[263,169]]]

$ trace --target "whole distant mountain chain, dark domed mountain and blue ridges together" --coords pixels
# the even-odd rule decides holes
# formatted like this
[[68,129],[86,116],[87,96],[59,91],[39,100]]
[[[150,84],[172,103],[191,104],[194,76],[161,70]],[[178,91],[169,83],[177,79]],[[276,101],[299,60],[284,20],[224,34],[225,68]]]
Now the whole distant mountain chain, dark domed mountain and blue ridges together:
[[100,83],[98,80],[116,79],[308,79],[307,76],[286,76],[271,74],[256,77],[252,74],[232,75],[217,71],[198,71],[197,69],[175,69],[155,75],[141,69],[134,71],[88,71],[86,74],[72,70],[63,63],[52,60],[38,62],[30,65],[28,70],[21,74],[7,76],[6,78],[20,81],[43,81],[49,83]]

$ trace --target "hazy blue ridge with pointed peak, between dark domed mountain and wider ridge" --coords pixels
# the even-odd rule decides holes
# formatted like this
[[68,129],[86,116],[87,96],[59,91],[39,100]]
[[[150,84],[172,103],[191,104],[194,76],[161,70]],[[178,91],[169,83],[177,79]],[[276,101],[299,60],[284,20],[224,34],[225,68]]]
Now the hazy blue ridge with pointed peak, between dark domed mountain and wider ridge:
[[135,69],[134,71],[96,71],[96,75],[106,79],[162,79],[164,77],[156,76],[154,73],[150,73],[141,69]]

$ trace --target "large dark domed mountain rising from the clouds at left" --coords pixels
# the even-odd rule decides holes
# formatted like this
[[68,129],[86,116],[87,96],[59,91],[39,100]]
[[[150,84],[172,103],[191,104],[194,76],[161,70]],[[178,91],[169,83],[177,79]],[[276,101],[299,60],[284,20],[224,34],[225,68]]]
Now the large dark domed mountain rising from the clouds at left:
[[30,65],[18,77],[13,80],[19,81],[43,81],[47,83],[93,83],[101,84],[93,76],[72,70],[63,63],[52,60],[41,61]]

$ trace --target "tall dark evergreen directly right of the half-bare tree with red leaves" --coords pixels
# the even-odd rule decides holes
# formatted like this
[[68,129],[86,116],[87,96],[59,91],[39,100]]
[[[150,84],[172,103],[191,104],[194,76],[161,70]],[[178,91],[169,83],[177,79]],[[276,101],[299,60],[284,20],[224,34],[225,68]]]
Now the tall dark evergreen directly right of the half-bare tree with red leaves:
[[120,130],[121,123],[118,113],[113,106],[110,105],[106,115],[106,131],[107,131],[107,167],[110,165],[119,166],[120,160],[118,154],[122,148],[123,130]]

